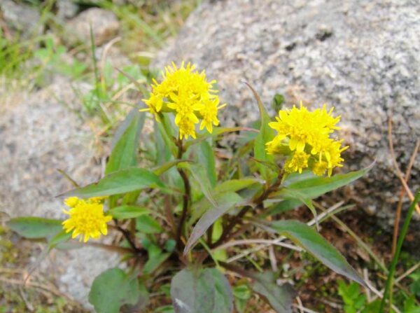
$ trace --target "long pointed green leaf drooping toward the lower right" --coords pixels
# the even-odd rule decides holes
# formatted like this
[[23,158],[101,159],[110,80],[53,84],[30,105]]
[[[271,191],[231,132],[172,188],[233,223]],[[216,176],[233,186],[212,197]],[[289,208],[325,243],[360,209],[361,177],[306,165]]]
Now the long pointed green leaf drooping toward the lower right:
[[268,223],[279,234],[288,237],[295,244],[309,251],[315,258],[318,258],[324,265],[330,267],[331,270],[342,274],[359,284],[366,286],[365,281],[359,276],[356,270],[347,263],[344,256],[327,242],[321,235],[300,221],[274,221]]

